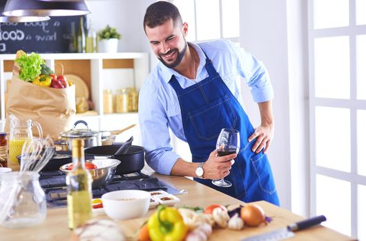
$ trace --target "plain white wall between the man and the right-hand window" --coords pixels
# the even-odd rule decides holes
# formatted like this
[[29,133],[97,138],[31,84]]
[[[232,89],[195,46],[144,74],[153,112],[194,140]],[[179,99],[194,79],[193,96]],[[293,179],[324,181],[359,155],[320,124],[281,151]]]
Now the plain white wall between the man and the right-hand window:
[[[275,133],[268,156],[281,206],[291,209],[289,76],[286,33],[286,0],[240,1],[240,45],[266,65],[275,92],[273,99]],[[247,85],[242,86],[242,94],[244,106],[253,125],[259,125],[258,105],[253,102]]]

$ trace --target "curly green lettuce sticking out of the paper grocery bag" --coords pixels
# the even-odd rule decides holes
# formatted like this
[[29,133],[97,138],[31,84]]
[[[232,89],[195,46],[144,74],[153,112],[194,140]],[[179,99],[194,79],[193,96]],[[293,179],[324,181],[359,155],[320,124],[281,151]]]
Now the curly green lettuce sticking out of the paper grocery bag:
[[32,82],[37,76],[41,74],[41,65],[44,64],[44,59],[39,54],[32,52],[28,55],[23,55],[15,62],[21,68],[19,78],[23,81]]

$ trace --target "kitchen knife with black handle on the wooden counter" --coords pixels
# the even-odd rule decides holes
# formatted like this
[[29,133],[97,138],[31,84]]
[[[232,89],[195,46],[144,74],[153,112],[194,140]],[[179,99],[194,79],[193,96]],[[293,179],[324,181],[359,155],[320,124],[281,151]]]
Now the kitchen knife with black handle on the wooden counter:
[[294,231],[307,229],[309,227],[320,224],[321,222],[327,220],[325,216],[316,216],[314,218],[309,218],[307,220],[302,220],[293,224],[289,224],[286,228],[277,229],[275,231],[270,231],[268,233],[262,233],[258,235],[251,236],[249,238],[244,238],[240,241],[275,241],[284,240],[286,238],[291,238],[295,235]]

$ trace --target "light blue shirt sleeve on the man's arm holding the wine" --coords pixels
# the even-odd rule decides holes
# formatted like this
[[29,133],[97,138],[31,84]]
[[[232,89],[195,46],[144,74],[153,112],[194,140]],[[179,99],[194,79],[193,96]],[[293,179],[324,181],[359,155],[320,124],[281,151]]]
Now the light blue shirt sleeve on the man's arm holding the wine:
[[146,163],[158,173],[170,175],[180,156],[171,147],[168,118],[162,103],[157,93],[148,86],[143,87],[139,93],[139,123]]

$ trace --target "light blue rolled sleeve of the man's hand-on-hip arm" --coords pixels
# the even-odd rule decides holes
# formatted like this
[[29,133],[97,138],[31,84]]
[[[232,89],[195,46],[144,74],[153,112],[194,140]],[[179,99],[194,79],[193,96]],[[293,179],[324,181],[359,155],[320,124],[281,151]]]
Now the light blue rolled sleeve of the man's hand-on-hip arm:
[[255,56],[231,43],[233,52],[237,54],[237,69],[250,87],[253,100],[256,103],[273,99],[273,87],[266,67]]

